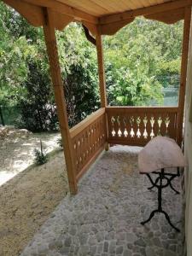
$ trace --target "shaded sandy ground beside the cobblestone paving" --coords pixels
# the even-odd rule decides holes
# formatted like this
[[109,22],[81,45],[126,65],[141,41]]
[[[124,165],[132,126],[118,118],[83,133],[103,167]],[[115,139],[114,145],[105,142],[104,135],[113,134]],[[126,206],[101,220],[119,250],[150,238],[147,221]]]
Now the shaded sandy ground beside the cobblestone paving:
[[0,255],[19,255],[67,195],[63,151],[43,166],[31,166],[0,187]]

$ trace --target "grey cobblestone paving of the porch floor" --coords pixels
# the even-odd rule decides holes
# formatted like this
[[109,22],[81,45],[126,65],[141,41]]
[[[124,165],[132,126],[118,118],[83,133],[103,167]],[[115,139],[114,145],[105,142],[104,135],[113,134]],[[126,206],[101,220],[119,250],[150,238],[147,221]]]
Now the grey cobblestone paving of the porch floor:
[[79,183],[79,194],[61,201],[21,255],[183,256],[182,195],[166,188],[162,201],[181,233],[161,214],[140,224],[156,207],[157,192],[138,173],[139,150],[115,146],[104,153]]

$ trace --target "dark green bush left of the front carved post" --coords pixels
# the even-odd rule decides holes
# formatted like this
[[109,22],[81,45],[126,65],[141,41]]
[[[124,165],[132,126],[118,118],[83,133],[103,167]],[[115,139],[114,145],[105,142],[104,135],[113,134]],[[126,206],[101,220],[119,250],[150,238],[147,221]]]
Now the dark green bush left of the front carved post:
[[55,131],[57,114],[49,75],[38,63],[29,62],[29,73],[23,84],[26,96],[20,99],[20,120],[17,126],[30,131]]

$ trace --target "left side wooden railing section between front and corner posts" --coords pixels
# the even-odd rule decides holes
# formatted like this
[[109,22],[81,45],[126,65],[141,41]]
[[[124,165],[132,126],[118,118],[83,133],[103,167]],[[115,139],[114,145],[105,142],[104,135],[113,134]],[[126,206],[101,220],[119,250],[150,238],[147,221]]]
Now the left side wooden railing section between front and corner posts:
[[105,108],[100,108],[70,129],[77,180],[105,147],[106,134]]

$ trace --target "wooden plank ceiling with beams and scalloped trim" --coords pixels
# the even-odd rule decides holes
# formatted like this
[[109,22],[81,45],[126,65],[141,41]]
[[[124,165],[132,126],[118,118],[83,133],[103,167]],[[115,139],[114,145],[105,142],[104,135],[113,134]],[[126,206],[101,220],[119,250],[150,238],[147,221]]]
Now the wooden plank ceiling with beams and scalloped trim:
[[55,28],[62,30],[80,21],[92,34],[113,35],[121,27],[143,15],[172,24],[184,18],[192,0],[3,0],[33,26],[44,25],[44,9],[51,9]]

